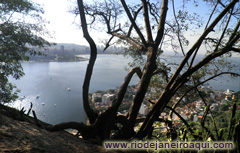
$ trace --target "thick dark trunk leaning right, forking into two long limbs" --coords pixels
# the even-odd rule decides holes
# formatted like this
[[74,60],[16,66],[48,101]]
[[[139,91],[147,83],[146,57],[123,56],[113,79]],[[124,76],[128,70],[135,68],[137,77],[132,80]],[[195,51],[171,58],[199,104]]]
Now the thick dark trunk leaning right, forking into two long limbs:
[[153,106],[152,110],[147,115],[147,120],[144,121],[144,123],[141,126],[140,132],[138,132],[138,138],[143,138],[147,134],[147,130],[151,127],[155,119],[158,117],[161,111],[165,108],[167,102],[171,99],[173,96],[175,89],[184,81],[186,78],[190,77],[194,72],[196,72],[198,69],[200,69],[202,66],[204,66],[206,63],[210,62],[212,59],[223,55],[224,53],[228,52],[229,49],[234,45],[234,43],[239,39],[240,34],[235,36],[234,39],[232,39],[227,46],[225,46],[222,50],[217,51],[215,53],[210,54],[204,60],[199,62],[196,66],[192,67],[191,69],[188,69],[182,76],[180,76],[179,79],[177,79],[178,75],[182,71],[184,65],[187,63],[188,59],[191,57],[191,55],[194,53],[194,51],[201,46],[202,41],[204,38],[210,33],[215,25],[220,21],[220,19],[231,9],[233,5],[237,0],[232,1],[213,21],[213,23],[203,32],[203,34],[200,36],[198,41],[193,45],[193,47],[189,50],[189,52],[184,57],[182,63],[177,68],[175,74],[171,77],[169,80],[167,86],[165,87],[164,91],[162,92],[161,96],[158,98],[157,103]]

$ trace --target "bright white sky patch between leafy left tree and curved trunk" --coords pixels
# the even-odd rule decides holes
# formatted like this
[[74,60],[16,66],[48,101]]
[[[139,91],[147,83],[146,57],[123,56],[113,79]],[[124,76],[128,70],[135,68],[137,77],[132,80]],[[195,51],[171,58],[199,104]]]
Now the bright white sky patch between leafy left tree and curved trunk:
[[81,29],[73,24],[75,16],[68,13],[71,2],[68,0],[34,0],[34,2],[42,5],[45,11],[43,17],[50,22],[47,29],[53,33],[54,38],[46,38],[47,40],[56,43],[87,44]]

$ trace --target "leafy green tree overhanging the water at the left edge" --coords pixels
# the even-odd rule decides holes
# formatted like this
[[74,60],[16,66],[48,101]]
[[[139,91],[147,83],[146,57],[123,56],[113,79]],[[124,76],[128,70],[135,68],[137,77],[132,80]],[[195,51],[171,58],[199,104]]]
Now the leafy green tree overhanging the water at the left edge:
[[35,47],[49,46],[43,35],[46,21],[40,16],[43,9],[27,0],[0,1],[0,102],[14,101],[19,92],[8,82],[12,76],[19,79],[24,75],[21,61],[35,55]]

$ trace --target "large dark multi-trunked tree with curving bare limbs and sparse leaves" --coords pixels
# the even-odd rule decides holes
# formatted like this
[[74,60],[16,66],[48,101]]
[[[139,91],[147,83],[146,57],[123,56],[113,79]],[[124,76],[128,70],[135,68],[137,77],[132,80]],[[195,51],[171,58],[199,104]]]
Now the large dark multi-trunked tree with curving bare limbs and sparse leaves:
[[[189,42],[184,37],[183,31],[188,29],[188,26],[184,22],[191,21],[193,18],[188,15],[188,12],[184,12],[184,9],[180,10],[178,15],[176,15],[174,1],[171,1],[170,3],[168,0],[162,0],[162,4],[159,4],[158,2],[155,3],[142,0],[141,4],[130,6],[126,4],[125,0],[121,0],[121,3],[114,0],[105,0],[103,2],[95,2],[94,4],[83,4],[82,0],[78,0],[78,8],[74,10],[74,13],[80,14],[82,31],[91,48],[91,56],[83,85],[83,104],[91,125],[69,122],[55,125],[51,127],[50,130],[55,131],[65,128],[74,128],[79,130],[84,138],[100,138],[101,140],[109,138],[151,138],[154,122],[161,120],[159,118],[161,112],[165,109],[170,109],[184,121],[189,132],[194,135],[194,132],[188,123],[175,111],[176,105],[187,95],[188,92],[194,89],[198,91],[197,87],[199,85],[217,76],[223,74],[238,75],[234,72],[221,71],[218,69],[218,71],[212,72],[212,75],[209,78],[204,78],[207,74],[205,71],[208,70],[209,72],[207,67],[211,62],[214,63],[219,57],[224,57],[226,54],[230,55],[232,52],[239,53],[240,50],[238,0],[224,2],[216,1],[214,5],[215,9],[213,9],[213,12],[217,12],[215,19],[213,20],[213,15],[210,15],[209,22],[207,22],[206,27],[203,29],[199,38],[191,47],[186,48],[184,46],[188,45]],[[172,10],[174,11],[173,23],[168,22],[167,20],[170,6],[172,6]],[[217,10],[216,7],[219,7],[220,10]],[[86,16],[89,18],[86,19]],[[127,21],[123,22],[123,20]],[[144,65],[142,67],[132,68],[127,74],[118,91],[117,97],[114,100],[113,106],[100,115],[94,112],[88,101],[89,84],[94,62],[97,58],[97,48],[95,42],[88,33],[87,22],[92,26],[95,26],[94,23],[97,21],[104,23],[102,25],[106,27],[106,32],[110,35],[110,39],[106,41],[105,49],[107,49],[112,41],[116,39],[117,42],[129,45],[127,50],[128,54],[132,54],[137,58],[146,55],[146,61],[140,60],[145,62],[141,63]],[[122,25],[121,23],[126,24]],[[191,24],[191,22],[188,24]],[[222,28],[219,27],[220,29],[216,30],[220,24]],[[196,25],[200,26],[199,24]],[[220,31],[217,37],[210,35],[214,33],[215,30]],[[143,34],[144,31],[146,34]],[[174,73],[170,73],[169,66],[164,64],[160,58],[169,41],[177,41],[178,45],[173,43],[173,47],[179,50],[183,55],[183,59],[178,63]],[[210,44],[212,50],[207,49],[207,54],[202,57],[200,61],[196,61],[199,49],[205,43]],[[185,49],[187,49],[187,51]],[[218,65],[217,62],[214,64]],[[216,66],[216,68],[218,68],[218,66]],[[125,96],[131,77],[135,73],[140,78],[135,98],[126,116],[117,115],[117,110]],[[161,74],[163,78],[162,80],[165,81],[163,86],[164,89],[158,94],[158,98],[155,102],[151,101],[153,107],[146,118],[139,119],[139,109],[144,101],[145,94],[152,79],[154,79],[157,74]],[[210,75],[210,73],[208,73],[208,75]],[[169,106],[168,104],[171,99],[182,88],[185,89],[182,90],[184,93],[179,93],[182,95],[180,100],[177,104]],[[201,96],[200,91],[198,91],[198,94]],[[204,99],[204,97],[202,98]],[[207,108],[209,110],[209,107]],[[135,132],[134,126],[140,121],[143,122],[143,124],[139,131]],[[165,122],[170,124],[171,118]],[[118,127],[117,124],[121,124],[122,126]],[[113,129],[117,132],[110,135]],[[195,138],[197,139],[196,136]]]

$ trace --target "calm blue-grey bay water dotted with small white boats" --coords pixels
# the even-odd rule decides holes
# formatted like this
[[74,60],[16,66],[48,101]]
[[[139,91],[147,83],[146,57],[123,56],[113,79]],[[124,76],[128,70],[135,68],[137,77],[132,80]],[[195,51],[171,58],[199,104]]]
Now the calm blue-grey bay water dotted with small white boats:
[[[127,74],[124,68],[129,61],[130,59],[121,55],[98,55],[90,92],[120,86]],[[11,79],[11,81],[21,89],[20,97],[25,96],[25,98],[12,105],[18,109],[22,107],[28,109],[32,102],[37,117],[51,124],[69,121],[85,122],[82,84],[87,64],[88,61],[22,63],[25,76],[21,80]],[[134,76],[131,84],[137,84],[138,81],[137,76]],[[217,81],[210,82],[210,86],[215,89],[238,91],[240,79],[231,80],[229,76],[223,76],[217,78]],[[36,98],[38,96],[39,98]]]

